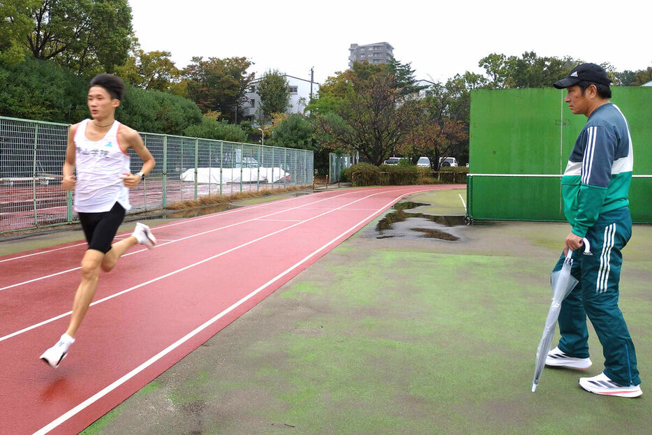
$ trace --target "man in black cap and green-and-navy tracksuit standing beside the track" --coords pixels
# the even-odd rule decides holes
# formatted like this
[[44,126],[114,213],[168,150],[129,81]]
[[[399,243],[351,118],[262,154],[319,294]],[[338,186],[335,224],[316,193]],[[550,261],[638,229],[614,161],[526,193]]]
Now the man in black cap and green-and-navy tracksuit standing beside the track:
[[[638,397],[643,392],[634,343],[618,308],[621,249],[632,235],[628,192],[634,159],[627,120],[609,101],[610,82],[602,67],[581,64],[554,83],[557,89],[566,89],[564,101],[571,112],[588,118],[561,179],[564,213],[572,226],[564,253],[579,249],[586,237],[592,255],[582,256],[580,251],[573,255],[571,273],[579,283],[561,304],[561,339],[549,351],[546,364],[591,367],[588,315],[602,344],[605,370],[580,378],[579,385],[598,395]],[[561,269],[563,258],[554,270]]]

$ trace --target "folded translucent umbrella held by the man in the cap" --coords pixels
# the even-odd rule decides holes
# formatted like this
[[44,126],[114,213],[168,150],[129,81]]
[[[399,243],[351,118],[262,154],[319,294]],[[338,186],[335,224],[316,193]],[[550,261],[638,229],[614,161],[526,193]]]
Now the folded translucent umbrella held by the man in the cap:
[[[591,246],[588,244],[586,237],[584,237],[583,240],[584,255],[590,256]],[[552,272],[550,276],[550,282],[552,284],[552,302],[550,303],[550,309],[548,310],[548,316],[546,318],[546,324],[543,328],[541,341],[537,347],[537,359],[534,366],[532,392],[535,392],[537,389],[543,367],[546,364],[546,357],[550,351],[550,343],[552,341],[552,337],[554,336],[557,319],[559,318],[559,311],[561,310],[561,302],[563,302],[566,296],[570,294],[572,289],[577,286],[577,279],[573,278],[570,274],[570,267],[572,266],[572,253],[573,251],[569,249],[561,270]]]

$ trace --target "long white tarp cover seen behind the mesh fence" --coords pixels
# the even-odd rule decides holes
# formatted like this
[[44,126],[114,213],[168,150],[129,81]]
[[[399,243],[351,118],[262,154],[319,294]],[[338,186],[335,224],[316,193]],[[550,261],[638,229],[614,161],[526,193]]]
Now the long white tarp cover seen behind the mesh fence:
[[[223,168],[222,184],[239,183],[240,175],[243,183],[278,183],[283,182],[283,179],[290,181],[290,174],[281,168]],[[181,181],[194,182],[195,169],[182,173]],[[197,168],[197,182],[220,184],[220,168]]]

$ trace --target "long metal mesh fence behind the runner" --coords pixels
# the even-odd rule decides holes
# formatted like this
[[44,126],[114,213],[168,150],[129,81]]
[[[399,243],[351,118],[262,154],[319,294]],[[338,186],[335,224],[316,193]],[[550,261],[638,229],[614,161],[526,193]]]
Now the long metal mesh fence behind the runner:
[[[68,124],[0,117],[0,233],[77,221],[61,189]],[[130,192],[131,213],[212,194],[307,186],[313,152],[140,133],[156,167]],[[131,172],[140,170],[130,149]]]

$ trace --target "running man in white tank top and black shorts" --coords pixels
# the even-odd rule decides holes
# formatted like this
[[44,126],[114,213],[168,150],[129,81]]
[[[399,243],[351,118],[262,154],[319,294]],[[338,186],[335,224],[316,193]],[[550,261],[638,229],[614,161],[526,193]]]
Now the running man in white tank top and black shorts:
[[[88,107],[92,119],[71,126],[61,187],[75,191],[75,212],[79,214],[88,250],[82,258],[82,282],[73,302],[73,314],[61,339],[40,358],[53,369],[68,354],[75,334],[93,300],[100,269],[109,272],[118,258],[135,244],[152,249],[156,238],[149,227],[136,223],[131,237],[114,243],[129,204],[129,189],[137,186],[154,168],[154,157],[133,128],[115,120],[115,109],[124,96],[124,83],[115,75],[96,75],[89,84]],[[133,175],[128,149],[142,158],[140,172]],[[74,171],[77,169],[77,178]]]

